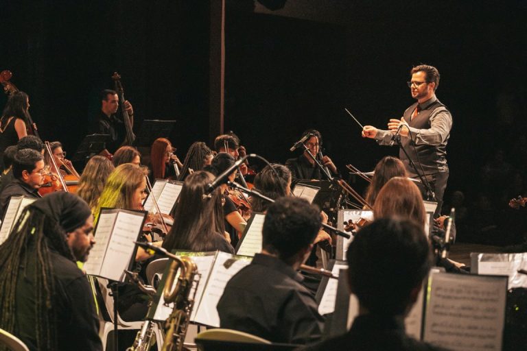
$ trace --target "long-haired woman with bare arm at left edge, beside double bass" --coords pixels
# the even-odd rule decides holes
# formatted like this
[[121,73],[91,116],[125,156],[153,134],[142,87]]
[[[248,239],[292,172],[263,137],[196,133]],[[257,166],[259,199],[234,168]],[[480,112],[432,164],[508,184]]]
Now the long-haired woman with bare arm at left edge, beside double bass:
[[[16,91],[9,97],[0,118],[0,162],[4,150],[27,135],[30,128],[28,111],[30,98],[23,91]],[[0,164],[0,170],[3,165]]]

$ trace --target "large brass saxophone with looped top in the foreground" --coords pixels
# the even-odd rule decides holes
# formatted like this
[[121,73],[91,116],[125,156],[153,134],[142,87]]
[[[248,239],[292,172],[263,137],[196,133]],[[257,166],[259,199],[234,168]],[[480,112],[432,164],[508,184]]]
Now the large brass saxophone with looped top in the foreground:
[[[190,322],[190,313],[194,306],[194,296],[189,297],[196,280],[196,287],[199,280],[196,279],[198,275],[198,267],[196,263],[189,257],[178,258],[171,256],[172,261],[167,279],[165,280],[165,288],[163,289],[163,298],[165,303],[174,303],[172,313],[165,322],[165,342],[163,342],[163,351],[182,351],[183,343],[185,342],[185,335],[187,334],[187,327]],[[176,287],[172,290],[176,274]],[[194,289],[196,294],[196,289]]]

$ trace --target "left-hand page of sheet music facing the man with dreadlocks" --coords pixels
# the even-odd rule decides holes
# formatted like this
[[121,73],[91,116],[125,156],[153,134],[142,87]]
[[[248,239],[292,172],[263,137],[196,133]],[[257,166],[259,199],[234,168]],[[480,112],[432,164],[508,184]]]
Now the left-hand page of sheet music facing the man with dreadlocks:
[[99,214],[97,228],[95,228],[94,233],[96,242],[90,250],[88,261],[84,263],[86,274],[92,276],[99,276],[101,274],[102,263],[104,261],[106,249],[108,248],[108,241],[110,241],[110,236],[112,234],[115,217],[117,217],[117,211],[106,212],[105,210],[102,210]]

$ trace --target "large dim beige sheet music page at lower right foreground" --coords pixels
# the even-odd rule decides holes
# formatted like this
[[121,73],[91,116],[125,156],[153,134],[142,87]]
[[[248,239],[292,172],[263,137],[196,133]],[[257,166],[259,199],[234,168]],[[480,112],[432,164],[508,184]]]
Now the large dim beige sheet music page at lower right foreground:
[[424,341],[451,350],[502,349],[507,280],[430,274]]

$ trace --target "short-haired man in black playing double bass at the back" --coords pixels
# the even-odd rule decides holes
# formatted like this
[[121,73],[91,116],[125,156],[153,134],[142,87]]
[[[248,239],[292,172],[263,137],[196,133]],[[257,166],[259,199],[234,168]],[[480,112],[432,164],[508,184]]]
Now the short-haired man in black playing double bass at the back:
[[[109,134],[111,141],[106,144],[108,153],[113,154],[126,139],[126,128],[124,121],[117,117],[119,108],[119,97],[115,90],[102,90],[101,110],[94,120],[93,132],[97,134]],[[130,117],[130,124],[134,125],[134,109],[128,100],[124,101],[124,109]],[[103,155],[105,156],[105,155]]]

